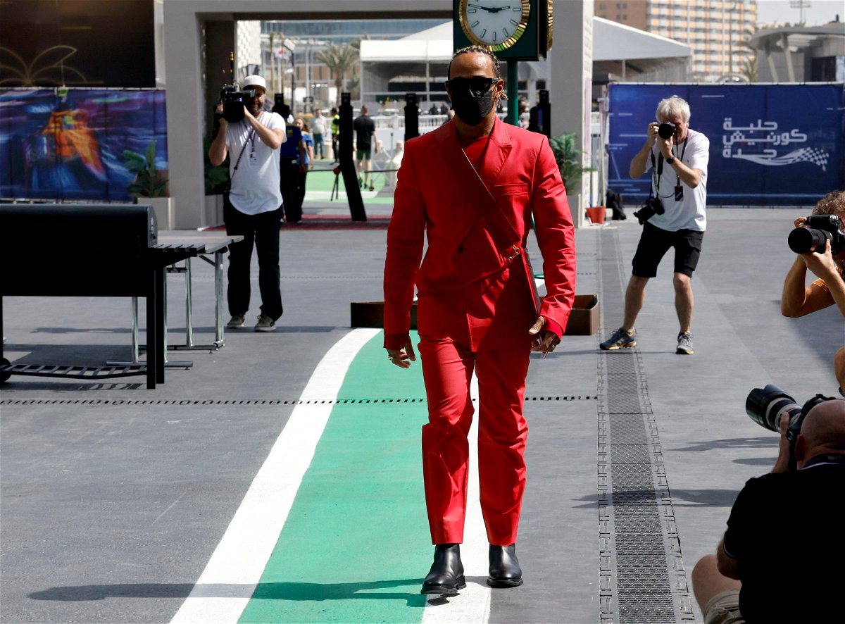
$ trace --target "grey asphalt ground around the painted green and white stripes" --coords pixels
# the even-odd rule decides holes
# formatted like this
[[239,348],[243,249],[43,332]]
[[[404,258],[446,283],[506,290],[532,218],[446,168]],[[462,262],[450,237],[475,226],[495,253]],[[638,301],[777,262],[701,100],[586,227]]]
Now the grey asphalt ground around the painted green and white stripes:
[[[342,215],[336,205],[306,211]],[[384,215],[390,206],[368,211]],[[744,481],[766,472],[777,455],[777,435],[744,412],[750,389],[775,383],[799,402],[837,391],[832,358],[845,342],[837,309],[798,320],[779,310],[793,260],[786,238],[793,219],[808,213],[708,211],[694,278],[693,356],[674,353],[670,259],[647,288],[630,357],[659,457],[655,487],[671,510],[672,522],[662,523],[667,552],[673,550],[668,561],[683,562],[673,571],[674,615],[651,621],[701,621],[688,606],[689,573],[714,551]],[[602,588],[608,544],[599,505],[602,392],[608,365],[620,360],[597,346],[621,322],[621,310],[606,302],[620,300],[640,231],[629,218],[577,232],[577,292],[599,295],[602,327],[565,337],[553,356],[532,361],[520,539],[526,584],[493,593],[491,621],[611,621],[624,606],[613,587]],[[350,302],[382,298],[384,238],[383,229],[283,226],[285,315],[278,331],[248,326],[227,331],[217,351],[171,352],[169,359],[191,360],[193,368],[168,369],[166,383],[153,391],[143,377],[96,383],[13,376],[0,386],[0,621],[169,621],[314,367],[349,331]],[[80,270],[96,279],[95,267]],[[613,271],[616,282],[608,281]],[[253,278],[257,293],[257,265]],[[258,315],[258,303],[253,307],[248,320]],[[183,279],[171,276],[171,344],[183,342],[183,314]],[[10,297],[3,315],[5,353],[14,361],[130,356],[125,299]],[[194,334],[197,343],[214,336],[213,272],[201,262],[194,264]],[[611,538],[613,550],[632,539]],[[428,535],[420,547],[430,548]]]

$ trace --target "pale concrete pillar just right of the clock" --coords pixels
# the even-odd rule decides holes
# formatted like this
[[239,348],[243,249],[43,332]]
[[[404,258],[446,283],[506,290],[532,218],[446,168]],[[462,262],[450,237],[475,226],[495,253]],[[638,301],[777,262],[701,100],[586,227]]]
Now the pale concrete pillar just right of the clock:
[[[590,162],[592,16],[593,0],[554,0],[554,39],[548,55],[552,74],[549,86],[552,136],[577,133],[585,166]],[[577,227],[585,223],[587,182],[584,176],[576,193],[569,195]]]

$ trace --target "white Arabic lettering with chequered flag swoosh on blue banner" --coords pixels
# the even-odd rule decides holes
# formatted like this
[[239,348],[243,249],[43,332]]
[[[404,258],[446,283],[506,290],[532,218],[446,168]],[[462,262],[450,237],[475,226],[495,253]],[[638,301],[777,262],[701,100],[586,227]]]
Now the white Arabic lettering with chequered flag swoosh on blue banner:
[[756,124],[734,126],[733,119],[726,117],[722,131],[724,158],[741,158],[770,167],[807,161],[827,171],[830,154],[816,147],[799,147],[807,142],[807,135],[797,128],[778,132],[777,122],[764,122],[761,119],[757,119]]

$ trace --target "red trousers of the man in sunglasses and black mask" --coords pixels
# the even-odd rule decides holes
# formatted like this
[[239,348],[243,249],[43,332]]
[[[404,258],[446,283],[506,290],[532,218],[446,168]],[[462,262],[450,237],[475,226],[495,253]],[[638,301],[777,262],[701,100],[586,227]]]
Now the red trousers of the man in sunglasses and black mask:
[[480,350],[449,338],[422,337],[419,352],[428,395],[423,425],[423,479],[433,544],[461,543],[472,424],[470,380],[478,377],[478,480],[490,544],[516,541],[528,425],[522,416],[530,349]]

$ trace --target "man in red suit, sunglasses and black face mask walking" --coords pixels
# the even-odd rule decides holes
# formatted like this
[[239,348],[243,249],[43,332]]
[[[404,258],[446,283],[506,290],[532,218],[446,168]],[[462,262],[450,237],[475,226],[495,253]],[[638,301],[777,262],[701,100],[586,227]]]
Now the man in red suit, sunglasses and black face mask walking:
[[[455,118],[406,144],[384,265],[384,348],[403,369],[417,359],[409,337],[417,287],[428,395],[423,479],[435,546],[423,594],[466,587],[460,544],[473,369],[487,582],[522,583],[515,542],[526,482],[528,359],[532,350],[545,357],[560,342],[575,297],[575,233],[547,138],[496,117],[504,81],[486,48],[455,52],[448,75]],[[523,261],[532,216],[548,292],[539,311]]]

